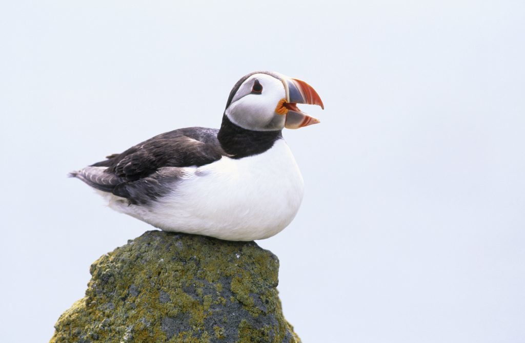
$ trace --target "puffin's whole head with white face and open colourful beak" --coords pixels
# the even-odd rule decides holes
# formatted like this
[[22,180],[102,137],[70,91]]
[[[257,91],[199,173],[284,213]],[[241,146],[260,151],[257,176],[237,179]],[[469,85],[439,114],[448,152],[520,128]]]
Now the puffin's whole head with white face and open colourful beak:
[[276,72],[257,71],[241,78],[230,92],[225,115],[234,124],[252,131],[277,131],[319,123],[297,104],[323,102],[306,82]]

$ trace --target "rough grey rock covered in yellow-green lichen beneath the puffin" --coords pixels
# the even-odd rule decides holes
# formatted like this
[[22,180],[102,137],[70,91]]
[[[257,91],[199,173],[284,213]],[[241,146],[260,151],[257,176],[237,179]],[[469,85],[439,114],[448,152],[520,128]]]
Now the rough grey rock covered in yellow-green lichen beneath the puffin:
[[91,265],[51,342],[300,342],[254,242],[148,231]]

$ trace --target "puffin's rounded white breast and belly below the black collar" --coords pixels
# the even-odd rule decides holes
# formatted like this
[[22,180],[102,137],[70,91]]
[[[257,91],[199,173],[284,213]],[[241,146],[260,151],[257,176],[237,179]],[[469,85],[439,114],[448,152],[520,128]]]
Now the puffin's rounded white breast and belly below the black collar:
[[284,140],[259,155],[185,169],[187,177],[150,207],[110,206],[165,231],[250,241],[284,229],[301,204],[302,176]]

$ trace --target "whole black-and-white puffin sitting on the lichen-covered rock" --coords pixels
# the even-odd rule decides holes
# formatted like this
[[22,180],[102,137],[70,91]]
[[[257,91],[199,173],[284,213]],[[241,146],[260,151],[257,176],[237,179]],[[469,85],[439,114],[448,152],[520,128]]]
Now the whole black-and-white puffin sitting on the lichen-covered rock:
[[217,130],[159,134],[71,172],[113,210],[172,232],[229,241],[269,238],[301,205],[304,182],[283,128],[319,123],[297,104],[324,105],[306,82],[256,71],[234,85]]

